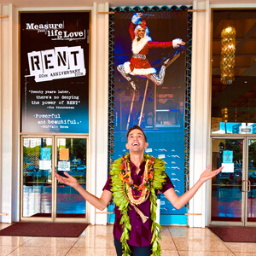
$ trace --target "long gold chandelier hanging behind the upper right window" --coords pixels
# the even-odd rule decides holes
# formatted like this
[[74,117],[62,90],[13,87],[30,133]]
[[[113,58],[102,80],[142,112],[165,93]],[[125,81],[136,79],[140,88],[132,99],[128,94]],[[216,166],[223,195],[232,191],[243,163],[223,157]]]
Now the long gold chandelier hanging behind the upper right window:
[[220,80],[232,84],[235,80],[236,29],[227,26],[221,32]]

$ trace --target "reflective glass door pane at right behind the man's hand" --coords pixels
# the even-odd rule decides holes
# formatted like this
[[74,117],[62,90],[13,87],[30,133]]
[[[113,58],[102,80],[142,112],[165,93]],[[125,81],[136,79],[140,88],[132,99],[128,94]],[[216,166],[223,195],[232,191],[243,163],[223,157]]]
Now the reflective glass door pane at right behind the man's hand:
[[[212,139],[212,170],[230,161],[233,172],[212,178],[212,220],[241,221],[242,145],[239,139]],[[232,152],[230,159],[225,152]]]

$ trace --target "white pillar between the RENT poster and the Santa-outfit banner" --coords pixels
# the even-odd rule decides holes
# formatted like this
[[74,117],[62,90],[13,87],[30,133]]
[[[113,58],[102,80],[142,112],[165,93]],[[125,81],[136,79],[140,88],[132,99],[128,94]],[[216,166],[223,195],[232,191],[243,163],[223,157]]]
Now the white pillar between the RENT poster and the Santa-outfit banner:
[[[96,196],[101,197],[108,177],[108,3],[97,4],[96,26]],[[107,212],[108,209],[104,210]],[[96,212],[100,212],[96,209]],[[108,214],[96,213],[96,224],[107,224]]]

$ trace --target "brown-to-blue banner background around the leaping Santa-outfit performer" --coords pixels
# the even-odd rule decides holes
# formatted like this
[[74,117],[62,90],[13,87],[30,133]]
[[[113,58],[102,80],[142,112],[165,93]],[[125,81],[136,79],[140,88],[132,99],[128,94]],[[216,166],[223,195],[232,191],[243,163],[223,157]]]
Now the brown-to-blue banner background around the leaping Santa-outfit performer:
[[[187,12],[160,11],[143,13],[152,41],[168,42],[175,38],[187,41]],[[126,132],[140,125],[148,138],[147,153],[166,161],[166,173],[177,195],[184,193],[184,101],[186,90],[186,47],[152,49],[147,58],[157,72],[166,58],[173,59],[166,67],[164,83],[155,85],[147,78],[131,76],[139,90],[134,96],[131,84],[119,73],[117,66],[131,60],[131,38],[128,32],[133,13],[114,15],[114,159],[125,154]],[[177,56],[178,55],[178,56]],[[143,109],[143,110],[142,110]],[[131,113],[130,113],[131,111]],[[160,223],[186,224],[184,213],[172,207],[160,195]],[[179,216],[179,217],[178,217]]]

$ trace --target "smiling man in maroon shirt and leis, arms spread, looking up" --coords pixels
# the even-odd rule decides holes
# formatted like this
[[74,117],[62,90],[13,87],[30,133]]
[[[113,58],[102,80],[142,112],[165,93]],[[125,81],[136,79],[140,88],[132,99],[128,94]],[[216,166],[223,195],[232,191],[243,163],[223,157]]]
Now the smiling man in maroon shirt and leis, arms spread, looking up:
[[125,146],[129,154],[114,162],[101,198],[83,189],[67,172],[64,172],[67,177],[61,177],[57,173],[55,177],[61,183],[72,186],[86,201],[101,211],[108,207],[113,197],[116,203],[113,236],[118,256],[160,255],[160,225],[155,223],[156,194],[164,193],[172,206],[180,209],[205,181],[216,176],[223,167],[208,172],[210,166],[207,166],[199,181],[189,191],[177,196],[170,178],[166,175],[165,162],[144,154],[148,142],[141,127],[134,125],[126,137]]

